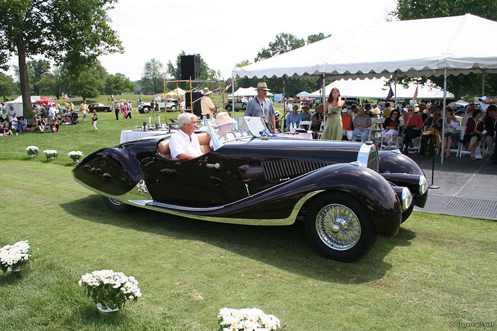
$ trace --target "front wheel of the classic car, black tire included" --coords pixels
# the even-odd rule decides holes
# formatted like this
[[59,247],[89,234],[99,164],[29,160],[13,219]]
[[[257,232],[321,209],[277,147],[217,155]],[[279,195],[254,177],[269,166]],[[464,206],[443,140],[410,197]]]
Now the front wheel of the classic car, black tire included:
[[357,261],[371,251],[376,241],[376,229],[366,208],[345,193],[319,195],[309,205],[304,219],[309,240],[328,259]]

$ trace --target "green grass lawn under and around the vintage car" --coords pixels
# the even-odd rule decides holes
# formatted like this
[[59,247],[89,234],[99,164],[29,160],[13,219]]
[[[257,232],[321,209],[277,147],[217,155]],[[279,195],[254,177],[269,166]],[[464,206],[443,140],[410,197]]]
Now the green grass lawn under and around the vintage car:
[[[98,117],[99,132],[87,121],[0,137],[0,247],[29,240],[35,252],[31,276],[0,274],[0,330],[214,331],[223,307],[257,307],[299,331],[497,322],[495,221],[414,212],[396,237],[378,237],[365,258],[344,264],[318,255],[300,221],[260,227],[114,213],[73,180],[67,153],[117,145],[121,130],[148,115]],[[34,159],[24,149],[32,144]],[[43,149],[59,157],[48,162]],[[113,321],[100,319],[78,286],[104,268],[133,275],[143,293]]]

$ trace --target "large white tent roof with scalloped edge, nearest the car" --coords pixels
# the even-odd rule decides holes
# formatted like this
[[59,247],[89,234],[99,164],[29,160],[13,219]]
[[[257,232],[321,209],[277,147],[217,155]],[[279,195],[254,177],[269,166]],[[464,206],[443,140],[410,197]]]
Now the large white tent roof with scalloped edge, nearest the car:
[[[364,45],[386,40],[419,40],[430,47],[406,52],[380,49],[365,52]],[[426,18],[368,23],[296,50],[254,64],[237,67],[237,77],[372,78],[403,75],[497,72],[497,22],[479,16]]]

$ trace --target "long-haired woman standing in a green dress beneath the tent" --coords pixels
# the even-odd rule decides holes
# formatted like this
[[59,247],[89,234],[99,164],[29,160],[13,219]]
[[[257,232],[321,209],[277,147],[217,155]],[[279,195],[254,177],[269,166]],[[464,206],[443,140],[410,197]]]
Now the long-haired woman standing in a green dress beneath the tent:
[[325,103],[325,109],[327,110],[324,114],[326,124],[321,139],[341,140],[342,124],[340,112],[344,104],[345,102],[341,99],[340,91],[336,87],[333,87]]

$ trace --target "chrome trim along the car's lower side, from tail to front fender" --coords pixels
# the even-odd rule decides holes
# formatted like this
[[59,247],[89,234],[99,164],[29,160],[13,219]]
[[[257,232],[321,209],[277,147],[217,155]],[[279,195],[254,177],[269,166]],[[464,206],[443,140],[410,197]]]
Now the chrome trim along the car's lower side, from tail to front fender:
[[[131,204],[134,206],[139,206],[147,209],[152,209],[156,211],[162,211],[172,215],[178,215],[188,218],[195,218],[205,221],[212,222],[221,222],[221,223],[233,223],[233,224],[245,224],[245,225],[291,225],[295,222],[297,218],[297,214],[300,211],[300,208],[304,205],[304,203],[313,197],[314,195],[323,192],[325,190],[313,191],[306,194],[304,197],[300,198],[300,200],[295,203],[290,215],[286,218],[274,218],[274,219],[258,219],[258,218],[228,218],[228,217],[217,217],[217,216],[205,216],[205,215],[195,215],[186,212],[169,210],[166,208],[173,208],[178,210],[190,211],[190,212],[200,212],[200,211],[212,211],[216,209],[221,209],[226,207],[227,205],[217,206],[217,207],[207,207],[207,208],[196,208],[196,207],[183,207],[172,204],[166,204],[161,202],[155,202],[150,194],[148,193],[147,186],[145,185],[145,181],[141,180],[131,191],[125,193],[122,196],[113,196],[107,193],[100,192],[86,184],[82,181],[78,180],[73,173],[73,177],[76,182],[81,184],[83,187],[87,188],[90,191],[93,191],[99,195],[102,195],[107,198],[111,198],[117,201],[122,201],[127,204]],[[148,198],[148,199],[143,199]]]

